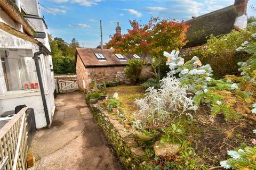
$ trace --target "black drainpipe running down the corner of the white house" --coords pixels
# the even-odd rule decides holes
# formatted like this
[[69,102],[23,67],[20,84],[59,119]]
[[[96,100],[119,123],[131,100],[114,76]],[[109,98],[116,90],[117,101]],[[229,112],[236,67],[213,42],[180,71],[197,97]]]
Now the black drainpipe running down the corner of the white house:
[[40,88],[41,96],[42,96],[42,100],[43,100],[45,119],[46,119],[47,127],[50,128],[50,118],[49,118],[49,114],[48,114],[48,109],[47,109],[47,104],[46,104],[46,99],[45,99],[45,94],[44,94],[44,86],[43,86],[40,66],[39,66],[39,62],[38,62],[38,60],[40,59],[40,57],[38,57],[38,55],[41,55],[44,53],[43,49],[44,49],[43,46],[39,46],[39,52],[34,53],[33,59],[35,61],[35,65],[36,65],[36,73],[37,73],[39,88]]

